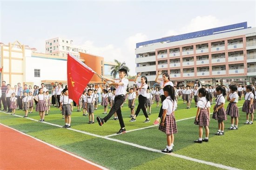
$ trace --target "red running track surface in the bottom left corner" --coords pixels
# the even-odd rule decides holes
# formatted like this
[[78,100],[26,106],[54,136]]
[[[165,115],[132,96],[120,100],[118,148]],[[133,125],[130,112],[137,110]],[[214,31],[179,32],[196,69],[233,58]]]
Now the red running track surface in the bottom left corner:
[[101,170],[32,137],[0,125],[0,170]]

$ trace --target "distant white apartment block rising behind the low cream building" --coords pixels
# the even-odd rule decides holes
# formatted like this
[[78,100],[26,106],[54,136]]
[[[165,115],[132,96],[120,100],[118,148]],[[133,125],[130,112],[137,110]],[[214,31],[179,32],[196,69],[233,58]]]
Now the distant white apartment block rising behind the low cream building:
[[49,55],[56,55],[60,57],[67,57],[70,52],[74,57],[80,58],[79,52],[88,53],[89,49],[84,46],[76,46],[73,40],[54,38],[45,41],[45,53]]

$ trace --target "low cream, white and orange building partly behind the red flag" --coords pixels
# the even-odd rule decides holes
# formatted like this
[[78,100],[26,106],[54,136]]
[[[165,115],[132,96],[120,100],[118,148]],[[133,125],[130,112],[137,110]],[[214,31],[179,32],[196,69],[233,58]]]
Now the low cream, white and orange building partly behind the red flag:
[[[111,62],[105,64],[100,56],[83,52],[79,56],[98,74],[105,75],[105,67],[115,65]],[[32,86],[44,83],[49,90],[55,81],[67,85],[67,57],[38,53],[35,48],[19,41],[7,45],[0,43],[0,80],[5,80],[12,88],[19,82]],[[89,83],[103,86],[106,82],[94,75]]]

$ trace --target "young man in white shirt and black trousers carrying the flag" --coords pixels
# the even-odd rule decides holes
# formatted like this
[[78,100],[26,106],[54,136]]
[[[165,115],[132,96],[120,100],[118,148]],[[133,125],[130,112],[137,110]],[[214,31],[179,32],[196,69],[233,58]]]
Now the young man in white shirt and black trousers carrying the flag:
[[99,76],[99,78],[104,78],[108,81],[111,81],[112,83],[109,83],[109,85],[116,85],[117,88],[115,91],[115,103],[114,103],[113,107],[110,109],[108,115],[105,118],[97,117],[97,121],[98,121],[99,125],[102,126],[116,112],[118,120],[119,120],[119,124],[121,126],[121,129],[117,132],[117,134],[125,133],[125,131],[126,131],[125,125],[123,122],[123,118],[122,118],[122,111],[121,111],[121,105],[124,102],[124,95],[126,95],[126,89],[127,89],[127,85],[128,85],[128,79],[125,78],[126,75],[127,75],[127,70],[124,68],[121,68],[119,70],[119,80],[107,78],[102,75]]

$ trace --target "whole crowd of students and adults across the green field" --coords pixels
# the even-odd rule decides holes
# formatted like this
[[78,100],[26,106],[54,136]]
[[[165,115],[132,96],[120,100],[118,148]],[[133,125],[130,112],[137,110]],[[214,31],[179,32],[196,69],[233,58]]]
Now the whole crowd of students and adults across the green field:
[[[183,100],[183,104],[187,104],[187,109],[190,109],[192,100],[195,101],[195,107],[197,111],[195,114],[194,124],[199,126],[199,138],[195,140],[195,143],[202,143],[209,141],[209,121],[210,121],[210,107],[213,104],[215,98],[216,105],[213,107],[212,118],[218,121],[218,131],[216,135],[224,135],[224,123],[227,120],[227,115],[230,118],[230,130],[238,130],[238,118],[239,111],[236,103],[242,100],[244,95],[244,103],[242,111],[246,113],[245,124],[253,124],[253,113],[256,107],[256,93],[253,85],[216,85],[216,86],[204,86],[201,85],[198,80],[195,81],[194,87],[187,85],[186,87],[176,87],[170,81],[167,73],[157,72],[155,78],[158,87],[149,88],[147,84],[147,77],[141,76],[139,73],[135,78],[135,86],[128,89],[128,79],[125,78],[127,70],[119,70],[119,80],[114,80],[104,76],[106,81],[110,81],[101,90],[100,86],[94,89],[93,85],[87,85],[85,91],[81,94],[81,98],[77,104],[68,97],[67,86],[63,89],[61,84],[55,82],[52,96],[49,95],[47,88],[42,83],[41,88],[34,87],[34,90],[27,88],[24,85],[24,89],[18,85],[14,86],[14,89],[10,88],[10,85],[2,82],[1,87],[1,100],[4,105],[2,111],[12,112],[15,114],[15,110],[25,111],[24,118],[28,117],[29,113],[33,112],[34,103],[36,105],[36,111],[39,112],[40,122],[45,121],[45,116],[50,111],[50,106],[55,105],[60,108],[63,119],[65,119],[65,125],[63,128],[71,127],[71,114],[73,111],[73,103],[77,106],[77,111],[83,111],[83,116],[88,116],[89,124],[94,124],[94,110],[97,110],[98,104],[104,107],[102,114],[107,114],[104,118],[97,117],[97,122],[100,126],[106,123],[113,115],[114,120],[119,120],[121,129],[117,134],[125,133],[125,124],[121,114],[121,107],[126,104],[128,99],[128,108],[130,109],[130,122],[135,122],[140,111],[142,110],[146,120],[144,123],[150,122],[148,115],[151,115],[151,105],[156,102],[156,107],[159,107],[159,101],[161,99],[162,105],[159,110],[158,118],[155,119],[155,125],[159,124],[159,130],[166,133],[167,146],[162,152],[172,152],[174,146],[174,134],[177,133],[177,125],[175,122],[175,110],[177,110],[178,99]],[[158,79],[159,75],[162,75],[162,81]],[[137,78],[141,77],[141,81],[138,82]],[[136,104],[138,99],[138,104]],[[225,101],[229,102],[228,107],[225,109]],[[108,105],[110,111],[108,111]],[[0,105],[1,107],[1,105]],[[136,108],[136,110],[135,110]],[[250,115],[250,120],[249,120]],[[235,124],[234,124],[235,123]],[[205,129],[205,137],[203,136],[203,128]]]

